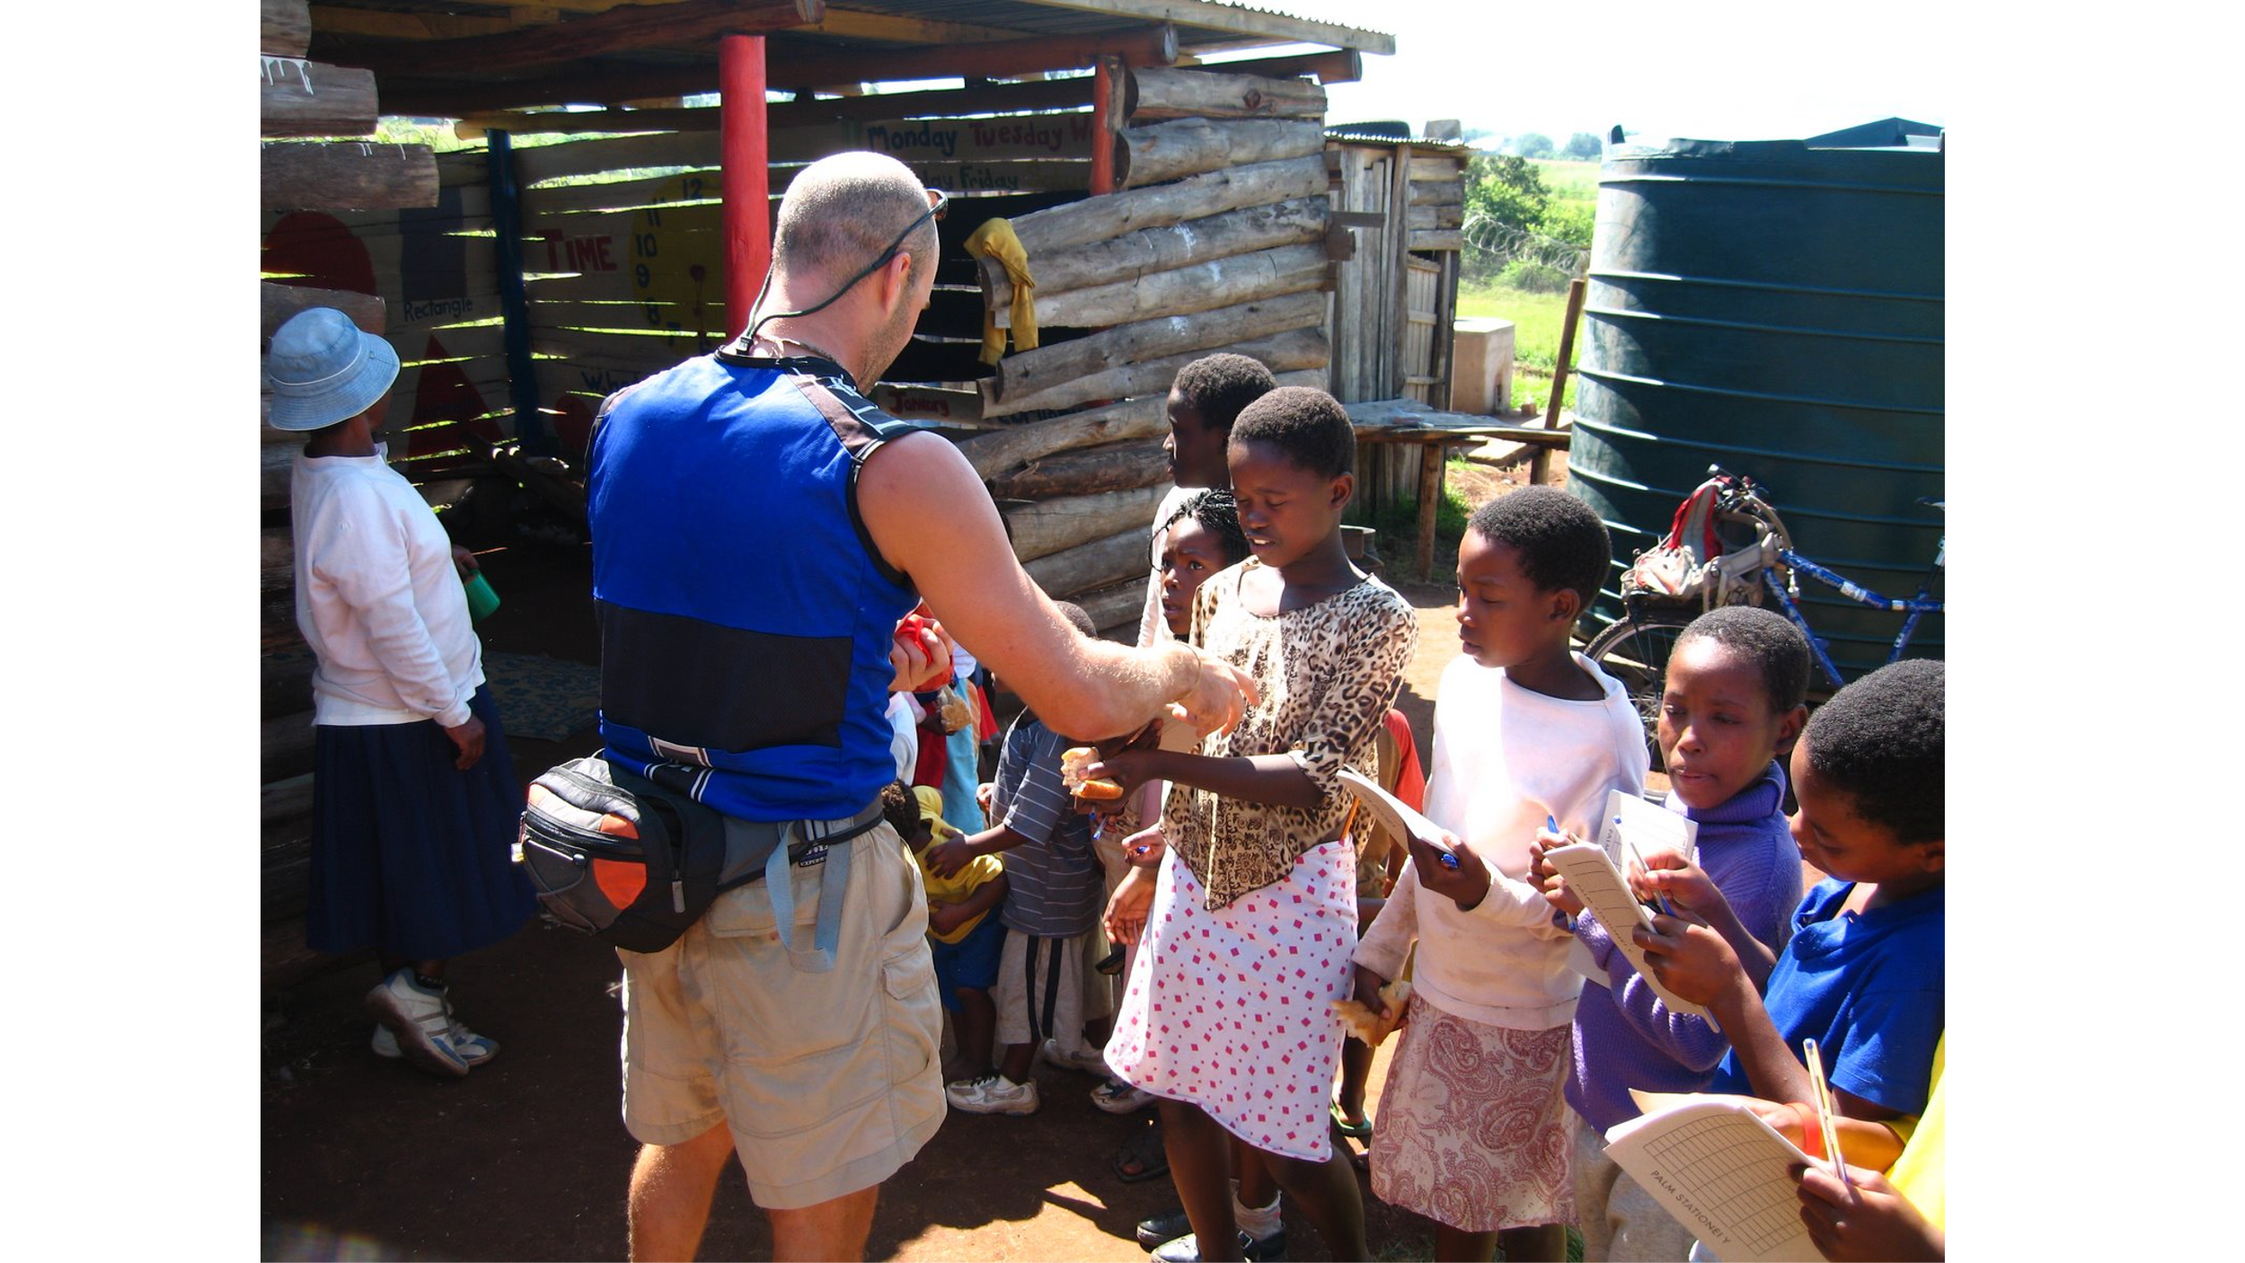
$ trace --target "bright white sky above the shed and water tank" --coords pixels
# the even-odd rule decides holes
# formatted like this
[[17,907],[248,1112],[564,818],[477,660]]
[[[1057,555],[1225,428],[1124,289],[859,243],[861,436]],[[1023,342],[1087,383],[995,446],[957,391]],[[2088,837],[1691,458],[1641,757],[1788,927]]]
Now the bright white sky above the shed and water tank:
[[1360,83],[1327,90],[1327,121],[1459,119],[1500,135],[1621,123],[1646,139],[1794,139],[1904,117],[1949,126],[1953,27],[1940,4],[1823,2],[1583,7],[1504,0],[1259,0],[1385,31]]

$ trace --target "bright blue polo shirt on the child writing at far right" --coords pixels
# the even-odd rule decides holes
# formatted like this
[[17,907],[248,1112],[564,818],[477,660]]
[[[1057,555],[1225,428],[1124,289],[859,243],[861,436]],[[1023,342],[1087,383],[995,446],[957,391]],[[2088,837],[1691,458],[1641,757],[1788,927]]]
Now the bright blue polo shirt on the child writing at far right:
[[[1834,1088],[1917,1115],[1944,1027],[1944,888],[1841,913],[1852,888],[1827,877],[1800,900],[1762,1005],[1794,1059],[1816,1041]],[[1753,1093],[1738,1052],[1708,1090]]]

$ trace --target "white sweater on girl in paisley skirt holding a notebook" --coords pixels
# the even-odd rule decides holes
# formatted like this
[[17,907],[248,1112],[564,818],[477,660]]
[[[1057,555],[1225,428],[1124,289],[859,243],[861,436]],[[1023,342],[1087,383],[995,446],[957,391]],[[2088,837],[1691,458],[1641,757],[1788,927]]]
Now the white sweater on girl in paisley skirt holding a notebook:
[[1435,695],[1435,760],[1426,814],[1491,868],[1488,895],[1459,911],[1403,868],[1356,960],[1385,978],[1419,940],[1412,989],[1426,1003],[1486,1025],[1551,1030],[1574,1021],[1583,978],[1567,967],[1572,935],[1527,882],[1529,846],[1545,817],[1596,837],[1605,792],[1641,794],[1646,729],[1621,684],[1587,657],[1605,698],[1567,702],[1513,684],[1502,669],[1459,655]]

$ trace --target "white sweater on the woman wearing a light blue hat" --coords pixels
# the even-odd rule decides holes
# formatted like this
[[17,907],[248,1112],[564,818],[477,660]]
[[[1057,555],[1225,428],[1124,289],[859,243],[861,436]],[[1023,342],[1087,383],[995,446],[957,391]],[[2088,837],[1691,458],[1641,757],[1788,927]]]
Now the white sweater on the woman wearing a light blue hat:
[[319,655],[312,722],[467,722],[483,646],[451,541],[420,491],[375,455],[296,453],[296,628]]

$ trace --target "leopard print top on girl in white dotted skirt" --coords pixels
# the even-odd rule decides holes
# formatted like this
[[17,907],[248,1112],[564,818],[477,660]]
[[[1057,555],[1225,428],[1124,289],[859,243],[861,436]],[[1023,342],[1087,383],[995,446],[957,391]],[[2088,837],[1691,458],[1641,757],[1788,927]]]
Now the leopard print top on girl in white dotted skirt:
[[1221,909],[1293,870],[1302,852],[1340,837],[1349,792],[1343,765],[1372,767],[1372,747],[1403,682],[1419,615],[1378,579],[1316,606],[1262,617],[1239,599],[1253,556],[1210,574],[1192,597],[1192,639],[1255,677],[1262,702],[1201,754],[1293,754],[1325,790],[1313,810],[1219,799],[1174,785],[1163,810],[1170,850]]

